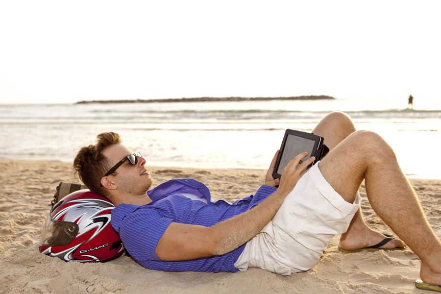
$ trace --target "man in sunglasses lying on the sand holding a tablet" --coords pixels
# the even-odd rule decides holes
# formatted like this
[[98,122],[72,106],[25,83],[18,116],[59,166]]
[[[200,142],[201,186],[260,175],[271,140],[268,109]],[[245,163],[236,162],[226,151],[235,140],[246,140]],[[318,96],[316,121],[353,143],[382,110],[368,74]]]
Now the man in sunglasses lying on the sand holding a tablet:
[[[422,281],[441,285],[440,241],[392,148],[374,132],[355,131],[341,112],[324,117],[313,133],[330,148],[321,161],[304,171],[314,158],[301,162],[306,152],[299,154],[274,179],[277,151],[265,185],[232,204],[211,202],[208,188],[194,179],[148,191],[153,179],[146,160],[113,132],[82,147],[74,168],[92,192],[116,206],[111,223],[133,258],[167,271],[255,267],[290,275],[318,263],[336,234],[342,234],[343,252],[403,249],[402,241],[371,230],[363,220],[358,190],[365,180],[372,208],[421,259]],[[417,285],[424,286],[422,281]]]

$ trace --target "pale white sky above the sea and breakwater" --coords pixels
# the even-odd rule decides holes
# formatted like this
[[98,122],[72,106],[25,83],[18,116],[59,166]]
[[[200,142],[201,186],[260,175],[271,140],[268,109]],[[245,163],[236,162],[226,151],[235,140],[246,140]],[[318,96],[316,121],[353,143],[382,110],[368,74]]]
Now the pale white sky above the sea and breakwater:
[[441,98],[440,1],[1,1],[0,103]]

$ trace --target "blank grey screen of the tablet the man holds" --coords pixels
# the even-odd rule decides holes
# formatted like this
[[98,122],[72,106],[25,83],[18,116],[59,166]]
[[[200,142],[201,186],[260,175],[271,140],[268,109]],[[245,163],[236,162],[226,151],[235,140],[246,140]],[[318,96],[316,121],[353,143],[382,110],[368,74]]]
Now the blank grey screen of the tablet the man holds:
[[282,174],[283,169],[291,161],[291,159],[302,152],[308,152],[308,155],[301,159],[302,161],[310,158],[315,143],[316,142],[314,140],[309,140],[306,138],[288,134],[285,147],[283,148],[282,158],[280,158],[280,164],[279,168],[277,169],[277,173]]

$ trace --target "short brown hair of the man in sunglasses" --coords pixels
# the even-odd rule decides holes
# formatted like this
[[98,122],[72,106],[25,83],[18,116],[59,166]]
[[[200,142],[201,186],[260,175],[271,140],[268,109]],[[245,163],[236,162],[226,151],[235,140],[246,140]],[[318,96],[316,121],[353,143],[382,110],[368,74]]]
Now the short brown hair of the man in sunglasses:
[[109,160],[102,151],[112,145],[120,144],[120,135],[114,132],[101,133],[97,144],[82,147],[73,160],[73,169],[90,191],[102,196],[110,196],[109,191],[101,187],[101,178],[111,168]]

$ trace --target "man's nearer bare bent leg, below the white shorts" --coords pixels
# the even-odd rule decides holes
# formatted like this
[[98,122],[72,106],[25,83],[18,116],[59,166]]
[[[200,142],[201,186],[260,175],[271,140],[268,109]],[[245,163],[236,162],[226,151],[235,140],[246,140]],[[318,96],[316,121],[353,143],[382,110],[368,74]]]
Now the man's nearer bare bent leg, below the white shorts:
[[319,170],[351,203],[364,179],[373,210],[420,258],[421,279],[441,285],[441,243],[383,138],[374,132],[356,131],[319,162]]

